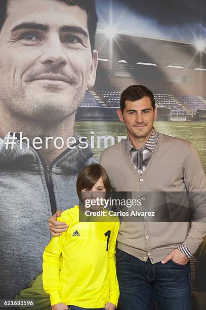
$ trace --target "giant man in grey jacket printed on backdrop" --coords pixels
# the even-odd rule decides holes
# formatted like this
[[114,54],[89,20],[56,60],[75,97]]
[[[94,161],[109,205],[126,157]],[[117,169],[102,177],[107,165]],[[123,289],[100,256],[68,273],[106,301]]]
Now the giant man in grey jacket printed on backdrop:
[[[76,176],[92,161],[77,135],[66,140],[95,83],[97,14],[94,0],[4,0],[0,12],[0,295],[12,298],[42,270],[48,219],[77,203]],[[8,132],[30,147],[16,135],[7,149]]]

